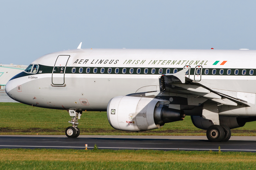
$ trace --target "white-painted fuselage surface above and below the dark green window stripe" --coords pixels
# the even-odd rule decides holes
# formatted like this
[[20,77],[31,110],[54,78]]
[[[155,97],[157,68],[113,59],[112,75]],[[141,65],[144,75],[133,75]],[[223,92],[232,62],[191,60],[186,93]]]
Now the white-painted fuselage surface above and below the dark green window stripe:
[[[200,75],[199,83],[223,94],[248,99],[251,110],[234,115],[256,115],[256,65],[255,50],[130,50],[130,49],[78,49],[65,50],[44,55],[31,64],[54,67],[59,55],[70,55],[67,67],[83,67],[83,73],[54,75],[63,77],[64,85],[52,85],[52,72],[45,73],[39,68],[37,74],[29,74],[10,80],[6,92],[15,100],[28,105],[52,109],[67,110],[106,110],[111,98],[150,89],[159,90],[158,69],[183,69],[189,65],[192,69],[201,66],[203,69],[254,69],[253,75]],[[214,65],[214,63],[216,63]],[[225,62],[226,61],[226,62]],[[224,64],[223,64],[224,63]],[[223,64],[223,65],[220,65]],[[104,74],[85,73],[86,68],[104,67]],[[107,69],[112,68],[112,74]],[[143,68],[141,74],[113,74],[114,68]],[[148,68],[148,74],[144,74]],[[155,68],[156,73],[150,74]],[[77,70],[76,70],[77,71]],[[126,70],[129,72],[129,69]],[[136,69],[134,69],[136,72]],[[172,73],[172,72],[171,72]],[[190,73],[190,79],[197,79]],[[18,85],[21,90],[18,91]],[[87,101],[87,103],[82,103]],[[229,114],[229,112],[227,113]],[[224,114],[225,115],[225,114]]]

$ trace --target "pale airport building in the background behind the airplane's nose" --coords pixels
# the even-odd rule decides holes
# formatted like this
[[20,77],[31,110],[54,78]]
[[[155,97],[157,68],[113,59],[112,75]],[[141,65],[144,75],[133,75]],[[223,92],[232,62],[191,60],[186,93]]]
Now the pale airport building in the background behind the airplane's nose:
[[27,65],[0,64],[0,102],[16,102],[5,93],[5,85],[13,76],[24,71],[26,68]]

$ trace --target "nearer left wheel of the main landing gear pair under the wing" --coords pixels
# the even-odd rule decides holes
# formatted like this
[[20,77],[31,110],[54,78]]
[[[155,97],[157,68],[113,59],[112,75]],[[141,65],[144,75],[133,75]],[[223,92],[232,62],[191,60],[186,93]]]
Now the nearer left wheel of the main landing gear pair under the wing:
[[206,132],[206,136],[211,142],[220,142],[225,136],[225,131],[220,125],[211,125]]

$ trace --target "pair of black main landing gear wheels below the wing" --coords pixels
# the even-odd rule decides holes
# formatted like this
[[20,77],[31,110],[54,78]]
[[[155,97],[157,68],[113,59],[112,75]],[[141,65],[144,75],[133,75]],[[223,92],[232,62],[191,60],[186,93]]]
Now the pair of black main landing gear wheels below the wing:
[[226,125],[211,125],[207,129],[206,136],[211,142],[226,142],[231,137],[231,131]]

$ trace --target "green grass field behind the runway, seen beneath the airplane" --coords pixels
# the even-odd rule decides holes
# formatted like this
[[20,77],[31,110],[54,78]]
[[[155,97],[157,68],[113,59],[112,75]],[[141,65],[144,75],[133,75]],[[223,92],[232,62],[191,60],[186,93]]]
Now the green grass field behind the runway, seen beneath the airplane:
[[[0,135],[64,135],[71,124],[66,110],[53,110],[21,103],[0,103]],[[163,128],[145,132],[125,132],[113,129],[106,112],[83,112],[79,122],[81,135],[205,135],[206,130],[196,128],[190,116],[185,120],[167,123]],[[232,135],[256,135],[256,122],[231,130]]]

